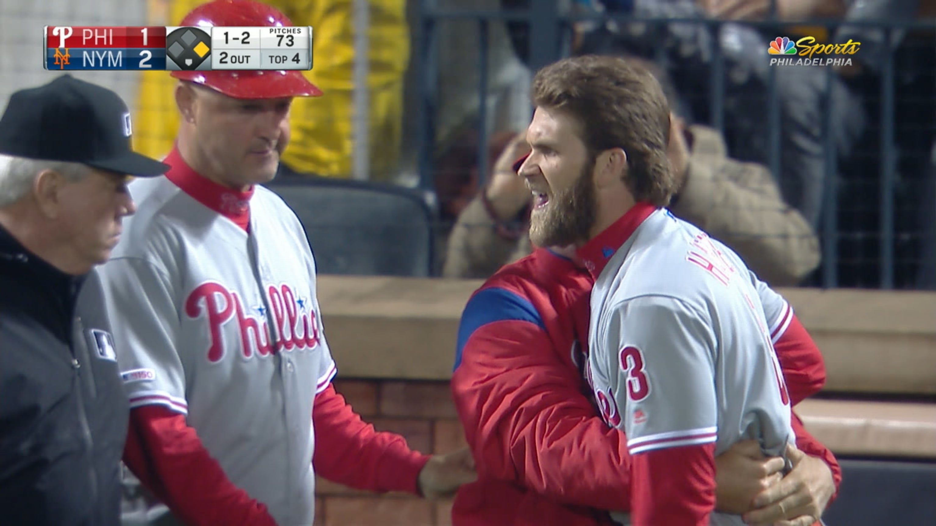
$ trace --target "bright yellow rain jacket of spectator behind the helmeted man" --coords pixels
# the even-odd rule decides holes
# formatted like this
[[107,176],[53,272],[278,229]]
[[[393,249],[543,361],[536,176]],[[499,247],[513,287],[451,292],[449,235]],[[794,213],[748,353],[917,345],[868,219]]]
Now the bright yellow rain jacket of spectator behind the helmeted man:
[[[151,0],[151,24],[170,25],[203,0]],[[354,158],[355,63],[354,2],[350,0],[267,0],[296,25],[314,30],[313,64],[303,72],[328,94],[297,99],[290,110],[292,139],[283,163],[293,171],[327,177],[351,175]],[[371,179],[396,175],[402,142],[403,78],[409,66],[410,35],[406,3],[368,0],[370,52],[368,76],[368,142]],[[175,84],[158,71],[142,72],[139,88],[140,152],[166,155],[179,128],[170,104]]]

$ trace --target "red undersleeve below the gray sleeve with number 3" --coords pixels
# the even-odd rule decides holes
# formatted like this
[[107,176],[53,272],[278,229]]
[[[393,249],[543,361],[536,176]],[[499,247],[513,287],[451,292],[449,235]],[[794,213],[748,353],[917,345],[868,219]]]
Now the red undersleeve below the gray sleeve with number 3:
[[631,523],[709,526],[715,507],[714,453],[712,443],[632,456]]

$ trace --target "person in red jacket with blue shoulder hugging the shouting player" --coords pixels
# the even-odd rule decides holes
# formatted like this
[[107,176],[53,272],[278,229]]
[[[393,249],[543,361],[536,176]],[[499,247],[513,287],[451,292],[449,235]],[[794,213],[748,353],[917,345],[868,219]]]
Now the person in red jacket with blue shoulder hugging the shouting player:
[[[497,164],[519,178],[526,157],[511,154]],[[549,217],[573,215],[566,199],[554,202]],[[796,404],[825,383],[822,354],[780,295],[759,280],[757,290]],[[591,291],[574,247],[539,248],[498,270],[465,306],[451,384],[478,480],[459,489],[454,526],[610,526],[608,510],[630,509],[627,439],[605,423],[619,416],[585,381]],[[809,526],[831,502],[839,464],[792,418],[793,470],[782,476],[783,459],[762,457],[756,441],[735,444],[715,459],[716,509],[750,524]]]

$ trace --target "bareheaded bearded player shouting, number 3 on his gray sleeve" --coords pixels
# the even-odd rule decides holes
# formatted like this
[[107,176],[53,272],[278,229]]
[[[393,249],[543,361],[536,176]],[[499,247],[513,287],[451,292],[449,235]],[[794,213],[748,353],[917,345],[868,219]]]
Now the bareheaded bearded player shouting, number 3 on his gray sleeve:
[[[714,511],[714,457],[743,439],[794,443],[772,343],[792,313],[722,243],[665,210],[669,108],[650,72],[613,57],[565,59],[534,78],[531,239],[578,245],[592,274],[587,376],[627,437],[622,523],[741,525]],[[570,213],[560,214],[560,210]],[[818,518],[815,518],[818,519]]]

